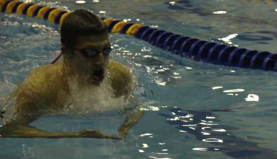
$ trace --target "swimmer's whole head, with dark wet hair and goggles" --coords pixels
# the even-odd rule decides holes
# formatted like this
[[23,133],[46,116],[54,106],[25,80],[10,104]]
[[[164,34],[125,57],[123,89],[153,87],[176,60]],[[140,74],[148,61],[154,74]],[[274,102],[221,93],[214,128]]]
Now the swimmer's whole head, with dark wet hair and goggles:
[[70,73],[82,83],[99,84],[105,77],[110,41],[105,23],[86,10],[69,14],[61,26],[62,53]]

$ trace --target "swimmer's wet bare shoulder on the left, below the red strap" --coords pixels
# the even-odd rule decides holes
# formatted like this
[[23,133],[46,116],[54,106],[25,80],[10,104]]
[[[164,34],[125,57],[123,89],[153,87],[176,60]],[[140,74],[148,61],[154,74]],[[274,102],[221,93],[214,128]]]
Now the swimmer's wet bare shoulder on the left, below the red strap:
[[[38,67],[27,75],[24,82],[15,91],[16,112],[24,115],[34,113],[44,105],[49,105],[52,96],[55,95],[55,77],[59,74],[60,64],[51,64]],[[58,81],[58,80],[57,80]]]

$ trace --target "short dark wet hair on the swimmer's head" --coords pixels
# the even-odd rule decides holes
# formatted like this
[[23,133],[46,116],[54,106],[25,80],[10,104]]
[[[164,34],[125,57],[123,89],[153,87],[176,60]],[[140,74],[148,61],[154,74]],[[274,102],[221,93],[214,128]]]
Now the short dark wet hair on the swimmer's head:
[[87,10],[75,10],[62,22],[61,43],[66,47],[74,47],[78,36],[102,35],[107,33],[103,20]]

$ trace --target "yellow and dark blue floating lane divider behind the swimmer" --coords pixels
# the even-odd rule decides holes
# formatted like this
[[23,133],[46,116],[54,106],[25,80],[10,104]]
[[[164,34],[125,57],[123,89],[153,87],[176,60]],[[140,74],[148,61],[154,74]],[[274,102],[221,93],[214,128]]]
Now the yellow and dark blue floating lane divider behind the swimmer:
[[[59,25],[71,13],[50,6],[12,0],[0,0],[0,9],[2,12],[25,14],[29,17],[45,19]],[[230,67],[277,71],[277,54],[267,51],[247,50],[245,48],[217,44],[112,18],[102,18],[102,20],[110,33],[131,35],[156,47],[195,61]]]

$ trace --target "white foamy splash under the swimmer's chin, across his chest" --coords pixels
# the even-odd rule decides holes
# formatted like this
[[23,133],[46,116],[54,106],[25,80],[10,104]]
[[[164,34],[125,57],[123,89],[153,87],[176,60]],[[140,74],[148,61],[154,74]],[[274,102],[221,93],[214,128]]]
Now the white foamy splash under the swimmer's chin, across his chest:
[[71,99],[65,106],[65,112],[88,113],[102,112],[125,107],[128,103],[123,96],[114,98],[114,90],[107,78],[99,86],[78,86],[77,82],[70,81]]

